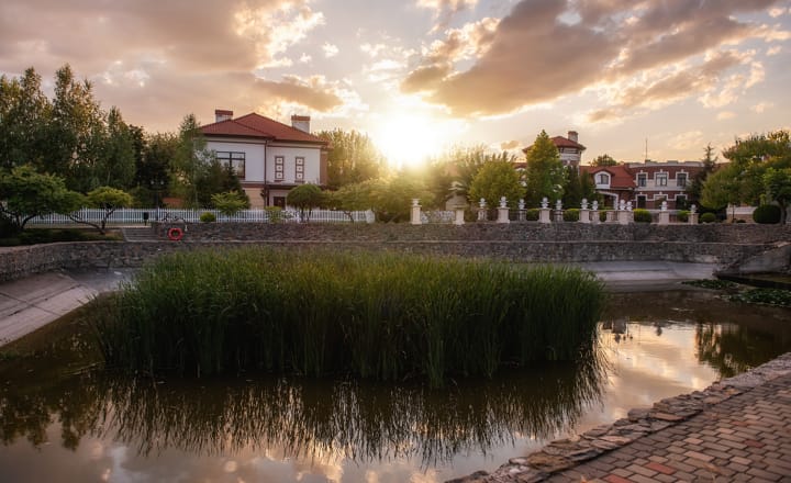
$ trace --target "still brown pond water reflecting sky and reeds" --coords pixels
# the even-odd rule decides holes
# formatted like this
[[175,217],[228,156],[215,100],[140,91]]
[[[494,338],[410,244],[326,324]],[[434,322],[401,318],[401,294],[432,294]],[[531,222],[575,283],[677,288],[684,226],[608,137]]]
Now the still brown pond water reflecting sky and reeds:
[[598,357],[444,390],[134,380],[93,369],[75,326],[54,324],[20,355],[3,352],[3,481],[441,482],[791,350],[791,311],[705,291],[613,294]]

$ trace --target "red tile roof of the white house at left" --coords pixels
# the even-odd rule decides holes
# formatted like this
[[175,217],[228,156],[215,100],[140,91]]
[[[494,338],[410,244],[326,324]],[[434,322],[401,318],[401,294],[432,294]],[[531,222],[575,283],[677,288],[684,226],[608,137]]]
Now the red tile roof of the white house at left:
[[312,134],[279,123],[260,114],[250,113],[233,120],[207,124],[201,127],[207,136],[263,137],[274,141],[313,143],[326,145],[327,142]]

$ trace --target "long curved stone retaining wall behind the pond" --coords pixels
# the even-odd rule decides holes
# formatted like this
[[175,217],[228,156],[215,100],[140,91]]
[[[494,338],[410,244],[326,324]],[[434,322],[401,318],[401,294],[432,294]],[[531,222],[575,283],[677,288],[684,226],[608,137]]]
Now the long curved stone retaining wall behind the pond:
[[[175,225],[178,226],[178,225]],[[175,250],[266,245],[290,249],[393,250],[520,262],[686,261],[733,265],[791,240],[791,225],[583,225],[559,223],[191,224],[145,242],[59,243],[0,249],[0,282],[59,269],[141,267]]]

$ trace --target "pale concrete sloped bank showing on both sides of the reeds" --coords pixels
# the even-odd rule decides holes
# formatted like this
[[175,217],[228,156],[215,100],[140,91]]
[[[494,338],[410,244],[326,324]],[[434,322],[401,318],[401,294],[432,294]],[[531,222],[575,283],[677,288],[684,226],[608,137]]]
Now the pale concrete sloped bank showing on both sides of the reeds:
[[[603,261],[573,263],[595,272],[612,291],[668,290],[683,280],[711,279],[712,263]],[[101,292],[114,290],[133,272],[90,270],[51,272],[0,284],[0,346],[30,334],[79,307]]]

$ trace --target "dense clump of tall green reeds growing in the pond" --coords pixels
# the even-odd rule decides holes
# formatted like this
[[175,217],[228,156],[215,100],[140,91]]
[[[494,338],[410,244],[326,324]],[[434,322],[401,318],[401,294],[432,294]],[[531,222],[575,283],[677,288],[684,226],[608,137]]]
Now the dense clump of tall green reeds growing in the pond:
[[105,361],[135,371],[400,380],[572,360],[602,287],[578,269],[396,254],[179,252],[140,271],[97,322]]

